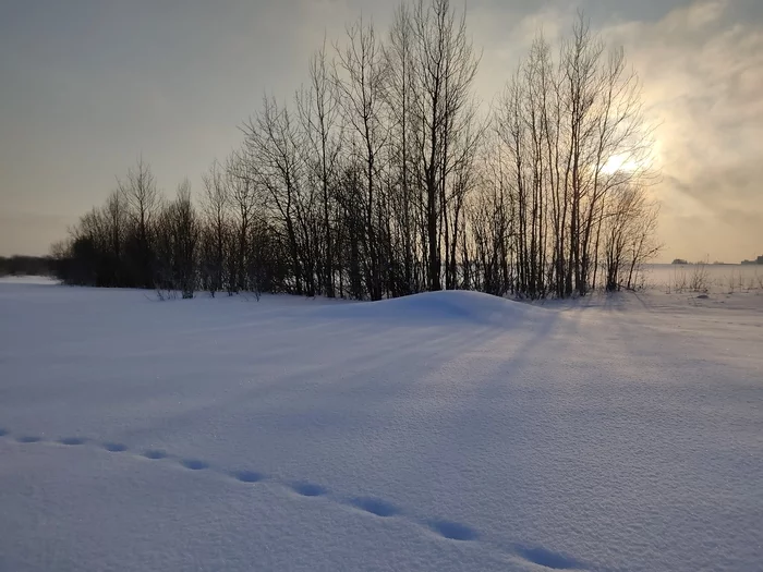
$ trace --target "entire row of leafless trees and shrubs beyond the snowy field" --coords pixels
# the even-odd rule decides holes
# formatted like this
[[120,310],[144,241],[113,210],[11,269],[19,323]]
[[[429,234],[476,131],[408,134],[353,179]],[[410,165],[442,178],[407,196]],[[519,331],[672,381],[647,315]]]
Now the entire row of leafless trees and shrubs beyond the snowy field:
[[73,284],[379,300],[531,299],[635,284],[654,242],[651,130],[621,49],[581,17],[542,37],[485,115],[480,54],[448,0],[359,21],[265,98],[243,142],[165,199],[140,160],[53,247]]

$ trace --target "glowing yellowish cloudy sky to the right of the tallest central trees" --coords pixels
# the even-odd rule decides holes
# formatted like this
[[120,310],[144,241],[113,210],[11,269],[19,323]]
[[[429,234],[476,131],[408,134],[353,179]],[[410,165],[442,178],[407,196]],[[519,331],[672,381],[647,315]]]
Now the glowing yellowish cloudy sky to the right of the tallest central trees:
[[559,39],[585,9],[594,31],[626,49],[657,125],[665,259],[749,257],[763,251],[763,9],[746,2],[644,1],[638,13],[616,0],[532,10],[487,2],[470,12],[486,46],[479,88],[500,89],[538,31]]

